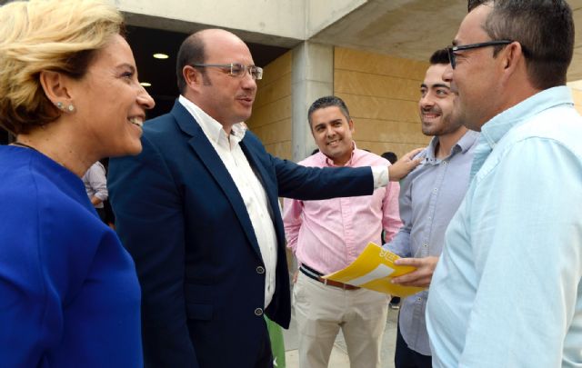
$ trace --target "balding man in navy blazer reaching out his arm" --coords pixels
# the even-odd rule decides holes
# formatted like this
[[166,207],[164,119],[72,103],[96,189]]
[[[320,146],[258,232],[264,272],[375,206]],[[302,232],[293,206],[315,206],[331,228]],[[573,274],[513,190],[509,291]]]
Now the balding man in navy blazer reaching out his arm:
[[176,69],[172,111],[146,123],[141,154],[109,165],[117,232],[142,286],[146,367],[271,367],[263,313],[286,328],[291,315],[277,198],[371,194],[417,161],[388,175],[266,153],[240,124],[262,69],[224,30],[186,38]]

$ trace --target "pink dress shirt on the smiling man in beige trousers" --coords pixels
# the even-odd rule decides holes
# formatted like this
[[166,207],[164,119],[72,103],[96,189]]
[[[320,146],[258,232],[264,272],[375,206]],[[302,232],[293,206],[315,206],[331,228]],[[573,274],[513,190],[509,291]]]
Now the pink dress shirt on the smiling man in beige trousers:
[[[333,167],[325,154],[317,153],[299,164]],[[354,149],[346,166],[389,165],[377,154]],[[287,246],[299,264],[329,274],[352,263],[366,244],[381,245],[386,230],[389,242],[402,225],[398,213],[400,185],[389,182],[372,195],[342,197],[322,201],[284,199],[283,221]]]

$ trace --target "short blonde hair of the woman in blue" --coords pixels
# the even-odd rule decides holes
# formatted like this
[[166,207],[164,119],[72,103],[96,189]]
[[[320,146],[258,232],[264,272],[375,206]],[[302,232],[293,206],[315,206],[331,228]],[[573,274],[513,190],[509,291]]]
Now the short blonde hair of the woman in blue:
[[0,7],[0,125],[20,134],[58,118],[40,73],[82,78],[95,51],[122,32],[122,15],[101,0],[31,0]]

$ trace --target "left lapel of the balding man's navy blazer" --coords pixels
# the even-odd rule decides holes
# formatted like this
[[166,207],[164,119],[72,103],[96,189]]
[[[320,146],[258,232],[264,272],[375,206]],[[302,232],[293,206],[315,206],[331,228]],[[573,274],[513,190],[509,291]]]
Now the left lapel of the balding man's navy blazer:
[[253,246],[256,254],[261,257],[255,230],[253,229],[253,224],[251,223],[248,212],[246,211],[245,202],[236,188],[235,181],[228,173],[228,170],[226,170],[225,164],[223,164],[218,154],[216,154],[215,148],[210,144],[210,141],[208,141],[208,138],[202,131],[200,125],[196,122],[194,117],[188,113],[182,104],[176,101],[176,104],[172,109],[172,114],[174,114],[176,122],[180,128],[186,134],[192,136],[192,138],[188,140],[188,144],[190,144],[192,149],[194,149],[200,161],[205,164],[208,172],[212,174],[216,183],[226,195],[228,202],[230,202],[235,211],[238,221],[242,224],[243,229],[245,230],[246,238]]

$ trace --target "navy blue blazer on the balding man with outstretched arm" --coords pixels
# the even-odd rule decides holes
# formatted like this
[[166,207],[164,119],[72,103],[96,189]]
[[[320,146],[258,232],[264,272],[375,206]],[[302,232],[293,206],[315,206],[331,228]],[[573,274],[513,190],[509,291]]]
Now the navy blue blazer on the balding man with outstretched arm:
[[[265,273],[246,206],[200,125],[176,101],[146,123],[143,152],[113,159],[117,232],[142,286],[146,366],[252,367],[265,333]],[[291,315],[279,196],[372,194],[369,167],[307,168],[280,160],[250,131],[241,142],[263,184],[277,237],[276,290],[266,314]]]

